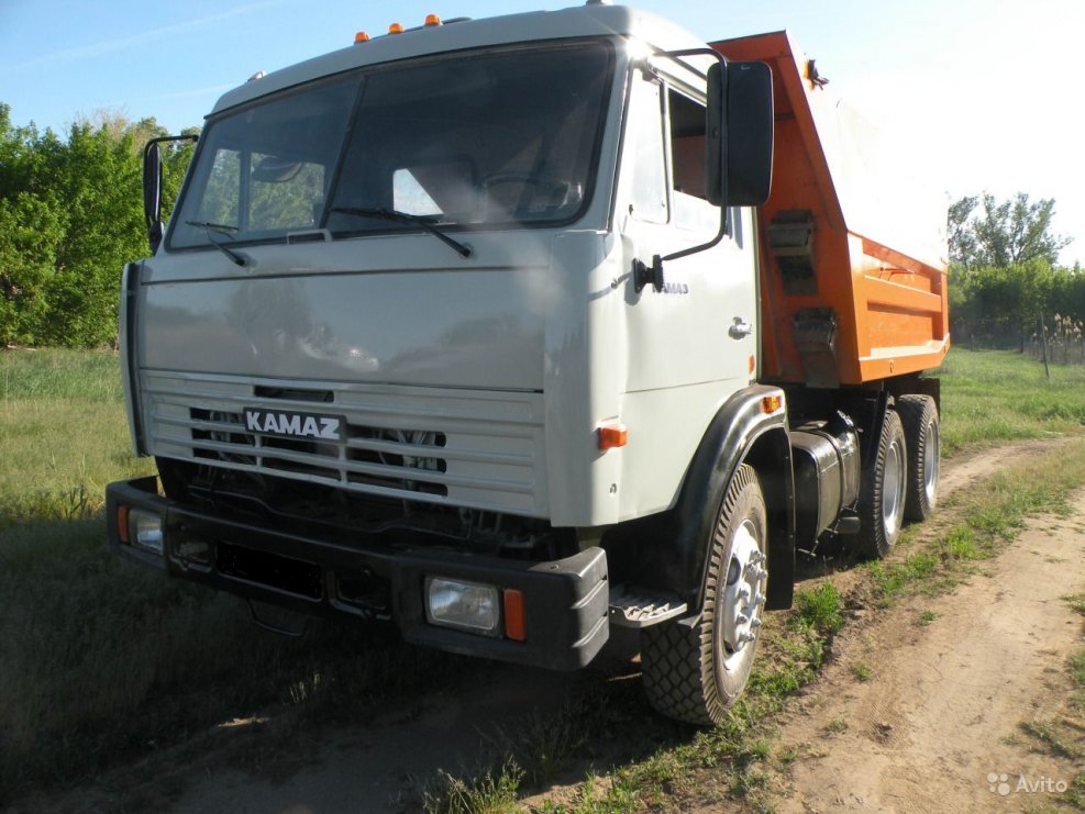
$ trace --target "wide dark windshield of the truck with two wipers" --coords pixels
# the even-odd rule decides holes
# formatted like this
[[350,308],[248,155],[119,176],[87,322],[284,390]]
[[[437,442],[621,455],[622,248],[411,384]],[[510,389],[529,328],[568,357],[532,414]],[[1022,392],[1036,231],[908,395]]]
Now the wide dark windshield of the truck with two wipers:
[[[328,228],[336,237],[560,224],[583,214],[613,49],[579,42],[400,63],[285,91],[212,120],[170,248]],[[432,230],[431,230],[432,231]]]

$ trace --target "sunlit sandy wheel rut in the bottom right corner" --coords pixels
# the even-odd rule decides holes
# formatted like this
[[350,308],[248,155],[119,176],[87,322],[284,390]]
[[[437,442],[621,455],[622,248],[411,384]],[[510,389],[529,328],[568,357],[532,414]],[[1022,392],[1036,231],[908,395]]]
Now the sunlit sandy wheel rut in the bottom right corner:
[[1073,509],[1029,523],[953,593],[917,598],[838,640],[833,664],[782,724],[799,759],[779,811],[1058,801],[1081,767],[1038,751],[1022,724],[1063,714],[1066,656],[1085,644],[1082,616],[1064,601],[1085,590],[1085,495]]

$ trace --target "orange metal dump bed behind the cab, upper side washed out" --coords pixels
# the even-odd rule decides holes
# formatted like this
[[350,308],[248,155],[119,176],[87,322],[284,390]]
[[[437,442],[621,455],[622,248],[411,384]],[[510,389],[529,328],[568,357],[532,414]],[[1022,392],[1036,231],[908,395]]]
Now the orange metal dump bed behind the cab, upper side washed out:
[[885,150],[786,32],[712,47],[773,73],[773,188],[759,213],[763,378],[837,387],[938,367],[950,344],[946,204],[909,177],[921,158]]

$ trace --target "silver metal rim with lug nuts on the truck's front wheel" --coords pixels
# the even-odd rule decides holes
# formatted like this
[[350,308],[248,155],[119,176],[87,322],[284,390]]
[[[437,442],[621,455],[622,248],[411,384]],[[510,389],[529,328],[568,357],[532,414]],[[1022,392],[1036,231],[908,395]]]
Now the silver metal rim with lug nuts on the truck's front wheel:
[[721,621],[724,669],[734,669],[757,638],[768,580],[764,562],[765,555],[757,540],[756,527],[748,520],[734,534],[723,589]]

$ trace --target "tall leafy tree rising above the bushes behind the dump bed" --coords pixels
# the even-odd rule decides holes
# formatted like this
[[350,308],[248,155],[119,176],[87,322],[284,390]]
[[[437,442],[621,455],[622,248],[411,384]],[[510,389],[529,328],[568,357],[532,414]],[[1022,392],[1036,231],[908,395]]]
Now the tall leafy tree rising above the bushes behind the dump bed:
[[[982,211],[973,216],[976,204]],[[968,267],[1006,268],[1014,264],[1059,261],[1070,238],[1051,231],[1053,198],[1030,201],[1025,192],[998,202],[995,197],[965,197],[950,207],[950,259]]]

